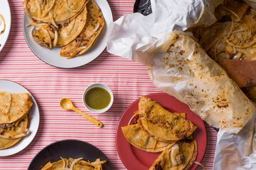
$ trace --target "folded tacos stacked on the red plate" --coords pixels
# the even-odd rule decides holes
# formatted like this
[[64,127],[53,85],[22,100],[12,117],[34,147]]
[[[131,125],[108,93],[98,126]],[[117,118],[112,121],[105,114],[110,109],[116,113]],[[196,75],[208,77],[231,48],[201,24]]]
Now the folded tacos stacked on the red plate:
[[171,113],[156,101],[141,97],[133,124],[122,127],[132,146],[162,152],[150,169],[189,169],[197,157],[197,126],[185,113]]

